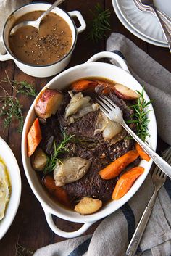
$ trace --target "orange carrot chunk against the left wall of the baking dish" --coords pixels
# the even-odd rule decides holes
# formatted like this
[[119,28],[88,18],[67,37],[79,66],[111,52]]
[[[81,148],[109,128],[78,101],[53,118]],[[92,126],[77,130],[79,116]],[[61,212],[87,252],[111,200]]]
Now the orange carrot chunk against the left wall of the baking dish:
[[36,147],[41,142],[41,128],[38,118],[34,121],[33,125],[28,132],[28,157],[30,157],[36,150]]

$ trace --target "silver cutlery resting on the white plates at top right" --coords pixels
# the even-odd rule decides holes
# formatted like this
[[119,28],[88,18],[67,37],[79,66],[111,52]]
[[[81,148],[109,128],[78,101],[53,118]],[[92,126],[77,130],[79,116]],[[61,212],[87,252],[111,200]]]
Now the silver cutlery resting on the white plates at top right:
[[[167,31],[167,28],[165,27],[165,23],[160,17],[159,13],[157,12],[156,7],[153,4],[153,0],[133,0],[137,7],[140,7],[141,5],[141,11],[143,12],[152,12],[156,17],[157,20],[162,28],[162,31],[164,33],[164,37],[167,40],[167,44],[169,46],[170,52],[171,52],[171,35],[170,32]],[[140,9],[140,8],[139,8]]]

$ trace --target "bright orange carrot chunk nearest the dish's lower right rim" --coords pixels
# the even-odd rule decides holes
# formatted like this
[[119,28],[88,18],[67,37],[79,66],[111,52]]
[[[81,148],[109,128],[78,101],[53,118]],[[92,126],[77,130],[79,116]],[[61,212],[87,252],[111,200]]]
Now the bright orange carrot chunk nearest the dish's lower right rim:
[[123,197],[131,188],[131,186],[133,186],[133,183],[135,182],[135,180],[139,176],[141,176],[143,171],[144,171],[143,167],[137,166],[135,168],[128,170],[126,173],[124,173],[117,181],[117,184],[112,194],[112,199],[118,200],[121,197]]

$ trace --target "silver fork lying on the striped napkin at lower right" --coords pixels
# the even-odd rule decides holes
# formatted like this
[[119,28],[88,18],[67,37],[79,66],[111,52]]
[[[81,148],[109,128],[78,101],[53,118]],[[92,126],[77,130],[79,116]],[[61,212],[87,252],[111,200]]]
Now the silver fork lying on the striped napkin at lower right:
[[[163,158],[164,158],[164,160],[169,162],[169,164],[171,163],[171,147],[169,147],[169,149],[167,149],[164,152]],[[143,232],[146,229],[146,225],[148,223],[149,217],[153,210],[154,203],[155,203],[156,197],[157,197],[157,192],[164,185],[166,178],[167,178],[167,175],[165,175],[158,167],[156,167],[154,169],[154,173],[152,175],[152,181],[154,183],[154,194],[152,195],[151,199],[149,200],[149,203],[143,212],[141,220],[139,221],[138,226],[135,229],[135,232],[130,241],[130,244],[128,245],[128,249],[126,251],[125,256],[134,256],[135,255],[135,252],[138,248],[138,245],[143,236]]]

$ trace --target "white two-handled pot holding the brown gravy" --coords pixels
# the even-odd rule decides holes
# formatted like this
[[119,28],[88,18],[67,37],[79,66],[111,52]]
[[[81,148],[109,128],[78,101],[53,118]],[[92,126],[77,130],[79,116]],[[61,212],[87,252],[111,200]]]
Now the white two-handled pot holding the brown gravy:
[[[17,59],[17,57],[14,57],[12,54],[12,51],[9,49],[9,33],[11,28],[14,25],[15,20],[17,20],[22,15],[25,15],[25,13],[38,11],[38,10],[46,10],[49,8],[49,4],[45,3],[33,3],[33,4],[26,4],[23,7],[20,7],[16,11],[12,13],[7,19],[7,22],[4,25],[3,35],[2,39],[4,42],[4,47],[7,51],[7,54],[1,55],[0,54],[0,61],[13,59],[17,67],[20,68],[24,73],[32,76],[36,76],[38,78],[45,78],[49,77],[51,75],[56,75],[60,71],[64,70],[64,67],[68,65],[70,62],[70,58],[72,56],[72,51],[75,48],[75,44],[77,41],[78,33],[82,32],[86,29],[86,22],[83,19],[83,16],[78,11],[72,11],[72,12],[64,12],[62,9],[59,9],[58,7],[55,7],[51,12],[54,12],[55,14],[62,17],[67,24],[70,26],[70,29],[72,31],[72,46],[70,51],[67,53],[65,57],[62,59],[59,59],[57,62],[50,64],[50,65],[28,65],[24,62],[20,61],[20,59]],[[80,27],[76,28],[75,23],[72,20],[72,17],[77,17],[80,22]]]

